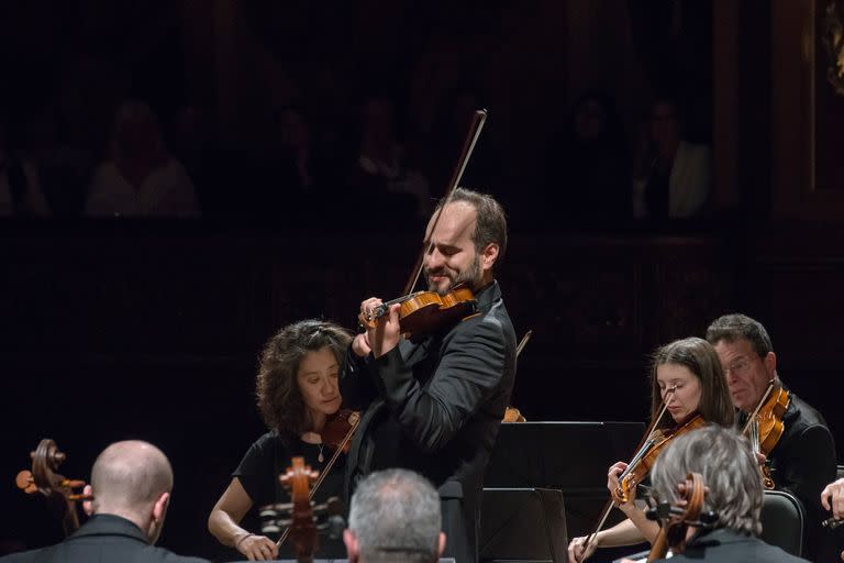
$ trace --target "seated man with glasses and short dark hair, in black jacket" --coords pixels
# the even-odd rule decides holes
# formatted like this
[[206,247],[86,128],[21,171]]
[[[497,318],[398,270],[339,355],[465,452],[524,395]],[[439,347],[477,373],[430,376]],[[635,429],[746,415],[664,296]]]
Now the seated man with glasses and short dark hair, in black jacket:
[[[749,317],[725,314],[709,325],[707,340],[721,358],[730,396],[740,410],[738,423],[744,426],[768,382],[782,385],[770,336],[760,322]],[[825,515],[820,495],[824,485],[835,478],[835,443],[823,417],[793,393],[789,391],[789,397],[782,435],[767,459],[776,488],[791,493],[803,505],[806,556],[826,561],[832,553],[821,547],[824,538],[820,523]]]

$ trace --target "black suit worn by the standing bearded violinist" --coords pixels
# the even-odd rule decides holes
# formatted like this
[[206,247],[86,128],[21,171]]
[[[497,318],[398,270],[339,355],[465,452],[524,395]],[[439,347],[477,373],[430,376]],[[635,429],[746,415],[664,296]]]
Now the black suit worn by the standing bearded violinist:
[[515,333],[493,282],[479,313],[379,358],[348,351],[340,387],[364,408],[347,460],[347,492],[368,473],[413,470],[440,488],[444,556],[477,560],[484,472],[515,377]]

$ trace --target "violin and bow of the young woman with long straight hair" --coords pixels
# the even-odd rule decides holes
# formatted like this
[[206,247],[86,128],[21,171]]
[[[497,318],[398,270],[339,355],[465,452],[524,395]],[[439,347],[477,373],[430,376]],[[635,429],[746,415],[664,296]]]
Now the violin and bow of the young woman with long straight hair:
[[[603,525],[607,522],[607,518],[609,518],[612,508],[618,504],[624,504],[630,500],[636,485],[642,483],[645,476],[647,476],[663,449],[675,438],[706,426],[706,420],[703,420],[700,415],[696,415],[670,431],[656,429],[656,426],[668,409],[668,404],[670,402],[674,391],[675,388],[671,387],[666,393],[665,399],[663,400],[663,408],[659,410],[656,418],[651,421],[651,426],[647,431],[645,431],[645,434],[636,449],[635,455],[633,455],[626,468],[619,475],[619,486],[615,487],[615,490],[611,492],[611,498],[603,507],[601,516],[598,518],[598,525],[595,527],[595,530],[587,536],[586,541],[584,542],[584,553],[589,553],[589,544],[595,540],[598,532],[603,529]],[[588,556],[584,558],[581,563],[587,559]]]

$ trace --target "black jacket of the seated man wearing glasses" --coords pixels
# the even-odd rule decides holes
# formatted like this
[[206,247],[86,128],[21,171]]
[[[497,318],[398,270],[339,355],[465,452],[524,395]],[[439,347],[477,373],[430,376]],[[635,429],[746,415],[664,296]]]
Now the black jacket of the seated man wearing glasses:
[[821,490],[835,481],[835,441],[823,417],[800,397],[790,393],[791,402],[782,417],[784,431],[770,451],[771,477],[777,489],[797,497],[806,512],[803,555],[821,555],[825,518]]

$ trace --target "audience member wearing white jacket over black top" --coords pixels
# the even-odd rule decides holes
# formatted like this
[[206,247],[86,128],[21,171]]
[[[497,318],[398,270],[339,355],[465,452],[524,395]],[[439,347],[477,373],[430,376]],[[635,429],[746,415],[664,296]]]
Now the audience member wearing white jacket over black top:
[[676,100],[664,97],[654,102],[633,187],[638,219],[686,219],[703,211],[710,191],[710,151],[686,141],[682,124]]

